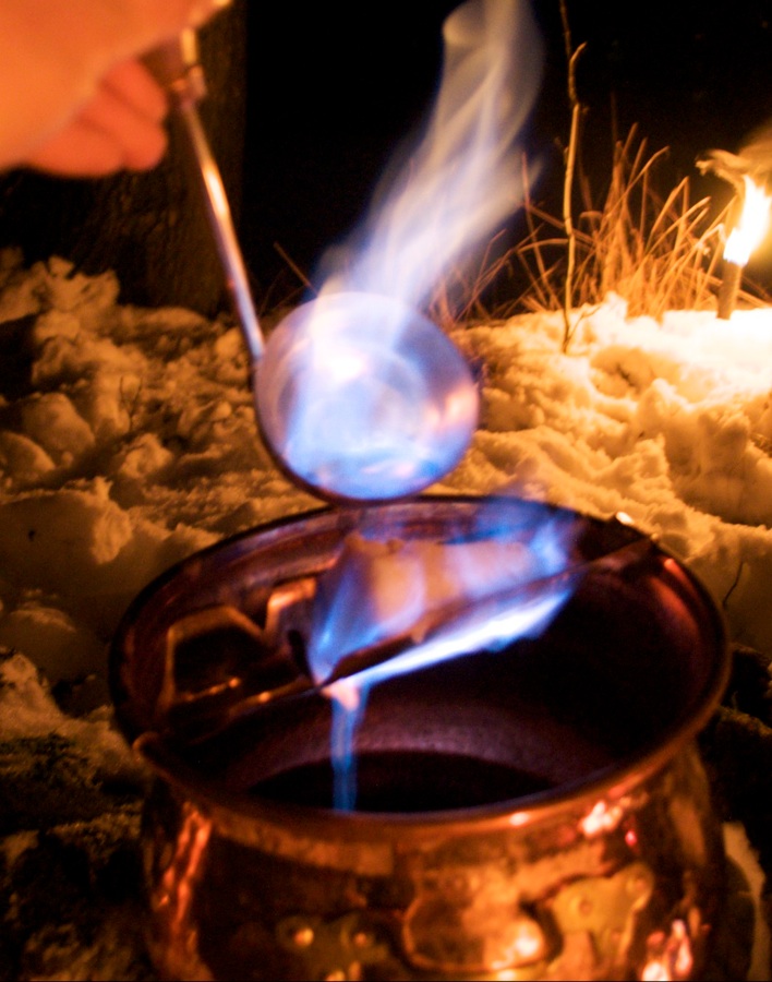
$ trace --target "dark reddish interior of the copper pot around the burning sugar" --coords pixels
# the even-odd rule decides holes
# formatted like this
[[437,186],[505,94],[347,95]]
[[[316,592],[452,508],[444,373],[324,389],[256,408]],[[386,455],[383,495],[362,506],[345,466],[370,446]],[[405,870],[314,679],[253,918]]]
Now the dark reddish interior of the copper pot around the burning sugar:
[[[322,513],[194,558],[137,598],[119,633],[119,718],[132,739],[160,732],[184,766],[228,792],[331,807],[329,699],[312,691],[269,704],[202,741],[195,739],[198,695],[207,706],[238,699],[250,673],[265,686],[298,672],[297,651],[277,657],[277,650],[311,630],[318,584],[329,579],[353,532],[379,528],[382,541],[400,536],[423,548],[455,549],[465,538],[479,542],[494,519],[497,532],[507,530],[510,560],[529,556],[531,571],[556,562],[536,563],[530,550],[557,523],[568,532],[562,562],[589,562],[588,572],[541,636],[509,637],[499,650],[488,645],[373,687],[350,734],[360,763],[357,807],[442,811],[547,789],[564,793],[646,756],[685,728],[692,732],[725,674],[723,628],[701,588],[619,523],[515,499],[426,499],[364,514]],[[626,552],[627,546],[636,548]],[[593,564],[605,555],[617,558]],[[486,565],[495,566],[490,559]],[[197,619],[217,610],[224,597],[241,621],[215,619],[176,650],[169,645],[176,624],[191,611]],[[272,607],[272,597],[284,599]],[[360,623],[383,623],[359,599]],[[278,632],[273,639],[272,632]],[[167,711],[169,685],[178,715]],[[192,723],[176,729],[179,720]],[[477,788],[465,777],[475,766]]]

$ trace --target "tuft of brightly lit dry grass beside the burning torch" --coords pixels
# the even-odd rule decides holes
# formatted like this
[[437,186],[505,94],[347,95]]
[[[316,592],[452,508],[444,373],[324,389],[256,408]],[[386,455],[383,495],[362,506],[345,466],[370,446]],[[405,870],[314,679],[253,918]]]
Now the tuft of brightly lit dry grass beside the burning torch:
[[[617,143],[608,189],[594,206],[587,179],[579,196],[582,209],[575,223],[576,270],[571,304],[602,303],[610,292],[623,297],[630,316],[661,320],[667,310],[715,308],[727,208],[713,213],[709,197],[691,202],[689,179],[668,194],[656,188],[661,149],[647,155],[636,130]],[[568,239],[565,223],[545,213],[530,194],[526,200],[529,232],[512,250],[528,276],[520,298],[530,311],[560,310],[565,304]],[[738,298],[747,304],[767,302],[752,292]],[[565,347],[570,340],[567,327]]]

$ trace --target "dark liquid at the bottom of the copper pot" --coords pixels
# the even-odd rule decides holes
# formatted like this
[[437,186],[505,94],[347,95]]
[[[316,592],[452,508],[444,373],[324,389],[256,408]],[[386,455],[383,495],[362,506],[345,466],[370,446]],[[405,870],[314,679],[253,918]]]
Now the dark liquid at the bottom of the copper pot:
[[[357,812],[436,812],[510,801],[553,785],[533,774],[479,757],[423,751],[363,753],[357,757]],[[252,794],[289,804],[333,807],[329,761],[303,764],[266,778]]]

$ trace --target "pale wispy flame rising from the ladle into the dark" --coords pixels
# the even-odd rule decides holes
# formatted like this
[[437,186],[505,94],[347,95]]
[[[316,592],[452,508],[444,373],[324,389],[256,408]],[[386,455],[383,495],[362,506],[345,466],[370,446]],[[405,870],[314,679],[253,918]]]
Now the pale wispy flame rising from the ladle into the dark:
[[420,308],[448,267],[522,203],[517,137],[542,50],[530,10],[518,0],[471,0],[445,21],[443,37],[426,133],[407,163],[391,164],[359,233],[323,260],[325,290]]

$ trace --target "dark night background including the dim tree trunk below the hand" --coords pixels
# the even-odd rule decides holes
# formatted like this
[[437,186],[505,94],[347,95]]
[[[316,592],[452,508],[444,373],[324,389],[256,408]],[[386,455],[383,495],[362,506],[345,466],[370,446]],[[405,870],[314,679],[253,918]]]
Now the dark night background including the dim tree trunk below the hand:
[[[236,0],[213,32],[213,97],[202,110],[261,308],[297,290],[299,274],[313,280],[326,247],[363,214],[395,147],[420,132],[438,82],[442,23],[457,5]],[[651,153],[670,148],[658,169],[664,193],[689,176],[693,200],[722,204],[728,187],[693,164],[711,147],[737,149],[772,119],[772,0],[567,5],[574,45],[587,43],[581,163],[599,196],[615,139],[637,124]],[[526,142],[542,161],[534,197],[559,214],[569,130],[559,0],[534,0],[534,11],[545,67]],[[150,176],[7,175],[0,246],[21,246],[28,262],[56,252],[85,272],[114,268],[125,300],[212,312],[215,264],[208,243],[186,228],[185,187],[173,153]],[[503,242],[522,232],[515,216]],[[749,268],[771,283],[772,247]]]

